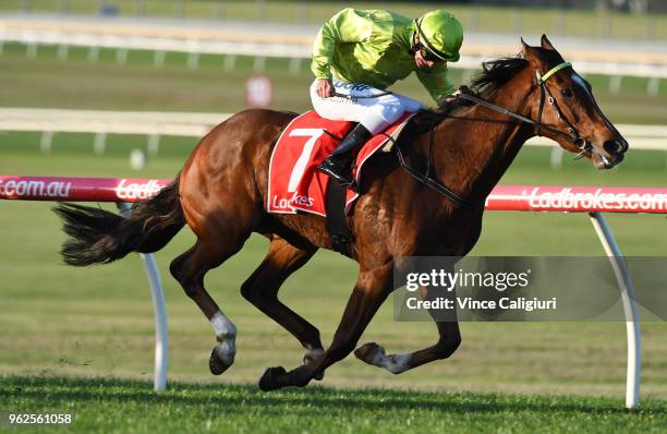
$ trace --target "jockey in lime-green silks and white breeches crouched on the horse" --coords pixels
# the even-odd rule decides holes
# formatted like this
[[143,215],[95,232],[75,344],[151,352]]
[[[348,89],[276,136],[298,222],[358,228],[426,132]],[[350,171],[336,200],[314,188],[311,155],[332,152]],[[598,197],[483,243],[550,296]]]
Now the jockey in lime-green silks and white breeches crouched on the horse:
[[352,152],[396,122],[419,111],[415,99],[385,89],[416,71],[433,99],[453,93],[447,62],[459,60],[463,28],[445,11],[417,20],[393,12],[343,9],[323,25],[313,47],[311,99],[323,118],[359,122],[318,169],[352,184]]

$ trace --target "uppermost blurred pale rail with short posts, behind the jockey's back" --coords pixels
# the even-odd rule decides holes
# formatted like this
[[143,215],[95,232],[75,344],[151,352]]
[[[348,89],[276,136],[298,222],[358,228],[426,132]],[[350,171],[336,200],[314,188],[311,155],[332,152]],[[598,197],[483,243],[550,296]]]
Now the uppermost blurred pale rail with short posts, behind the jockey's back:
[[[66,20],[27,20],[0,16],[0,44],[21,43],[33,47],[57,45],[60,47],[116,48],[124,50],[150,50],[156,52],[180,51],[192,56],[229,55],[253,56],[258,58],[310,59],[314,33],[287,34],[248,33],[247,29],[231,31],[211,28],[202,24],[179,27],[173,24],[150,25],[141,22],[85,21]],[[305,32],[305,33],[304,33]],[[518,41],[508,44],[504,37],[493,35],[471,35],[471,40],[463,47],[459,62],[451,63],[454,69],[477,69],[480,63],[497,56],[507,56],[518,49]],[[489,36],[492,37],[489,41]],[[478,40],[477,40],[478,39]],[[568,59],[575,63],[582,74],[602,74],[611,76],[639,76],[652,79],[650,93],[657,94],[659,81],[667,79],[667,53],[651,50],[628,52],[628,50],[609,50],[592,47],[591,49],[566,49]],[[93,53],[93,57],[96,55]],[[59,50],[59,57],[66,57],[66,48]],[[124,59],[120,56],[119,59]],[[162,57],[156,56],[156,63]],[[196,65],[191,60],[190,65]],[[614,87],[620,84],[614,84]]]

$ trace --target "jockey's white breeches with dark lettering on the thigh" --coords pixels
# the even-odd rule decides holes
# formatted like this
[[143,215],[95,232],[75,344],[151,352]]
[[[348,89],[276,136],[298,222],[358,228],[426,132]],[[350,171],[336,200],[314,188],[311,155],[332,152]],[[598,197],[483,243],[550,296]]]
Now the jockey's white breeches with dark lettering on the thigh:
[[343,96],[320,98],[317,80],[311,85],[313,108],[323,118],[359,122],[373,134],[384,131],[405,112],[419,111],[420,101],[407,96],[376,89],[365,84],[333,80],[335,92]]

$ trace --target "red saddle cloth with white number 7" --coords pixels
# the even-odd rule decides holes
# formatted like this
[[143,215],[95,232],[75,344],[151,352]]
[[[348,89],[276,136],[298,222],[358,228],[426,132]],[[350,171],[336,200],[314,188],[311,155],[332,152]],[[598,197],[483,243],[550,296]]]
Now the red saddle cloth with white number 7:
[[[360,182],[364,164],[378,152],[412,113],[405,113],[384,133],[371,138],[356,155],[353,171]],[[340,138],[352,128],[348,121],[320,118],[314,110],[292,120],[274,147],[269,164],[269,185],[266,209],[269,213],[296,214],[299,210],[326,216],[326,192],[329,176],[317,166],[336,148]],[[345,212],[359,194],[348,189]]]

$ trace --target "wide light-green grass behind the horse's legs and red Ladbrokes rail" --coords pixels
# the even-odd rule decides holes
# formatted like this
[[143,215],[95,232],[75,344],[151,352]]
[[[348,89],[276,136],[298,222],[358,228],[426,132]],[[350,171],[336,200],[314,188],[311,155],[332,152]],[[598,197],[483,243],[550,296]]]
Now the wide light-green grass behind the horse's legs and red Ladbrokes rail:
[[[112,146],[104,157],[59,146],[51,155],[1,149],[0,145],[0,173],[14,174],[171,178],[184,159],[159,157],[137,172],[129,168],[126,155],[113,152]],[[601,173],[585,161],[569,159],[562,170],[550,170],[548,149],[524,149],[504,182],[664,186],[664,168],[648,165],[655,155],[638,153],[634,168],[621,166]],[[89,268],[61,265],[58,251],[64,236],[50,206],[0,202],[0,372],[150,378],[153,316],[138,258],[131,255]],[[664,216],[608,215],[608,220],[626,254],[665,255]],[[266,251],[266,241],[256,236],[241,253],[207,276],[213,297],[239,327],[234,366],[221,377],[208,373],[213,331],[168,272],[170,261],[192,242],[192,233],[184,229],[156,254],[169,314],[170,381],[248,384],[256,383],[267,366],[296,366],[303,354],[299,343],[239,293]],[[473,253],[601,255],[603,251],[584,215],[487,213]],[[355,276],[353,262],[323,251],[286,282],[281,299],[319,327],[328,345]],[[395,376],[349,357],[327,371],[323,384],[615,398],[623,395],[622,323],[465,323],[461,327],[463,345],[450,360]],[[662,323],[642,324],[642,396],[667,399],[667,328]],[[429,323],[393,322],[392,301],[388,300],[362,342],[377,341],[389,352],[402,352],[423,348],[435,339],[436,330]]]

